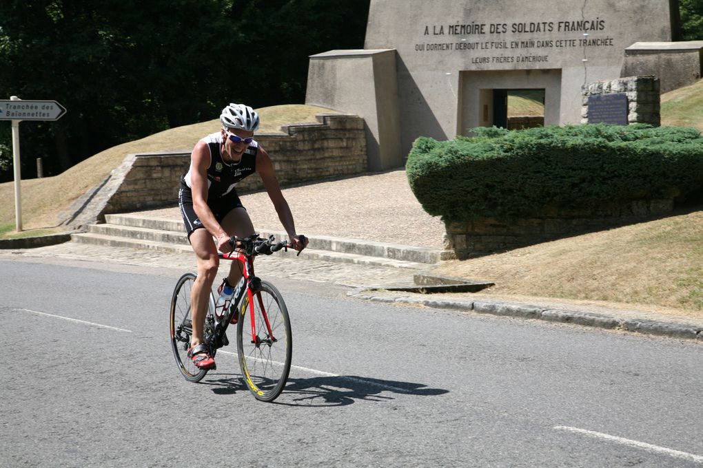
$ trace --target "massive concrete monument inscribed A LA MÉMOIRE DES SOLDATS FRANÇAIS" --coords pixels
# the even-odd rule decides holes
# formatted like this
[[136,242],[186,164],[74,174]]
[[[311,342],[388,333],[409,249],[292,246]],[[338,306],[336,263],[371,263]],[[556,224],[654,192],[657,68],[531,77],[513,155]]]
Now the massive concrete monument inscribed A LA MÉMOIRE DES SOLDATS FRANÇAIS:
[[695,60],[676,86],[692,83],[703,41],[671,46],[677,21],[677,0],[371,0],[363,50],[310,57],[306,103],[359,114],[368,168],[396,168],[420,135],[505,126],[508,90],[541,90],[544,124],[561,125],[581,123],[588,83],[679,56]]

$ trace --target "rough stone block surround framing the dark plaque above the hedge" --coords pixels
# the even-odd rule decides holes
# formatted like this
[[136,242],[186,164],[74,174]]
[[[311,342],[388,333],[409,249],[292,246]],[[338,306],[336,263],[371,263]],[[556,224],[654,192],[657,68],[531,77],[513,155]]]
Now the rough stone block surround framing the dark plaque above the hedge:
[[659,126],[659,78],[656,76],[628,76],[626,78],[595,81],[583,87],[581,123],[588,123],[588,98],[593,95],[625,94],[628,102],[628,123],[649,123]]

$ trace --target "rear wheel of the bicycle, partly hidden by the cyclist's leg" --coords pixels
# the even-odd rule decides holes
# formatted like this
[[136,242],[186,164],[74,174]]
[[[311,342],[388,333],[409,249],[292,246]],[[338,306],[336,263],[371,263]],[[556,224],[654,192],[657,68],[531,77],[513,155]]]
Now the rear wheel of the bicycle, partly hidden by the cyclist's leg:
[[[176,288],[171,297],[171,314],[170,314],[170,340],[171,347],[174,352],[174,359],[181,375],[188,382],[200,382],[207,369],[198,368],[193,364],[193,361],[188,357],[188,348],[191,347],[191,335],[193,334],[193,324],[191,322],[191,289],[196,275],[186,273],[176,282]],[[210,294],[208,301],[207,314],[214,314],[214,298]],[[205,335],[207,333],[207,324],[211,323],[205,320]]]

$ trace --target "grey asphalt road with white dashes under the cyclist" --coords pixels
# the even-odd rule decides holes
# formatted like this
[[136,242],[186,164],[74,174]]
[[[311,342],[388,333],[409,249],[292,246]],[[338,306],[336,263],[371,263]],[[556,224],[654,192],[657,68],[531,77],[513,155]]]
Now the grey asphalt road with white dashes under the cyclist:
[[234,354],[200,384],[180,377],[178,270],[0,261],[0,274],[4,467],[703,466],[696,342],[276,279],[294,367],[261,403]]

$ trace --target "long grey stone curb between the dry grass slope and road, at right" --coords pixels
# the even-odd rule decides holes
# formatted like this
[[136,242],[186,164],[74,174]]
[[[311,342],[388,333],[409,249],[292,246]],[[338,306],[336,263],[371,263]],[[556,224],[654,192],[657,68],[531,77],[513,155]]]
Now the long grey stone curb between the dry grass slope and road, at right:
[[368,295],[371,291],[381,291],[375,288],[356,288],[349,291],[347,296],[376,302],[412,304],[433,307],[435,309],[453,309],[477,314],[491,314],[496,316],[510,316],[521,319],[544,320],[560,323],[574,323],[575,325],[605,328],[607,330],[621,330],[647,335],[659,335],[686,340],[695,340],[703,343],[703,326],[687,323],[674,323],[647,319],[621,319],[607,314],[594,312],[576,312],[567,309],[552,309],[511,302],[493,302],[486,300],[446,300],[423,299],[420,297],[401,296],[394,294]]

